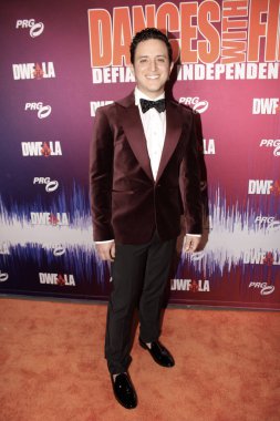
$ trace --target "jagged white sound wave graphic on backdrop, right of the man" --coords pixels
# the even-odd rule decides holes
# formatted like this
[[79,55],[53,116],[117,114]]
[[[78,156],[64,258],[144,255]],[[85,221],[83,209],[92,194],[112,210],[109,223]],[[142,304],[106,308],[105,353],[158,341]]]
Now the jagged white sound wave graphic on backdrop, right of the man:
[[[193,267],[204,278],[225,278],[236,270],[241,280],[248,280],[269,267],[270,280],[276,280],[280,265],[279,198],[256,196],[243,205],[229,206],[219,188],[209,197],[208,242],[201,251],[182,254],[177,276],[184,267]],[[265,212],[268,208],[269,214]],[[260,265],[265,267],[260,269]]]

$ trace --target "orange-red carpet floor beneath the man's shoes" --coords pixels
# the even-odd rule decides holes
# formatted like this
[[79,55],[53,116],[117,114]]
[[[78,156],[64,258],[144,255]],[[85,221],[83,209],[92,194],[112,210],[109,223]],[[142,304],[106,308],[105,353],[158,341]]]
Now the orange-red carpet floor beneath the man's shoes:
[[125,410],[103,358],[105,306],[0,306],[1,421],[280,420],[279,312],[167,309],[162,341],[176,366],[160,368],[135,340],[138,407]]

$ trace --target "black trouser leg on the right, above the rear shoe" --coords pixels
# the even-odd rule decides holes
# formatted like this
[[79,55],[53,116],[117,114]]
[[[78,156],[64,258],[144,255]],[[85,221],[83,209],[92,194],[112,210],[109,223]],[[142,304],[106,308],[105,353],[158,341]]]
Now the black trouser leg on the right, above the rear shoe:
[[155,236],[148,249],[139,301],[139,336],[144,342],[157,340],[160,335],[160,310],[175,247],[176,238],[162,242]]

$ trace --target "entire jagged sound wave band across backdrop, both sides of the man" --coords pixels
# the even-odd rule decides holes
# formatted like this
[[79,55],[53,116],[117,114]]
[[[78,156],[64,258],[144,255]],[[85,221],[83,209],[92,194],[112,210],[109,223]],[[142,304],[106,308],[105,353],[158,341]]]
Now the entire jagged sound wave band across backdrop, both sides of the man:
[[[190,274],[215,281],[238,270],[246,278],[262,265],[261,273],[269,270],[270,278],[276,280],[280,260],[278,206],[279,198],[271,196],[250,197],[242,205],[229,206],[218,187],[210,191],[205,248],[193,255],[180,254],[176,276]],[[269,215],[265,213],[268,208]],[[48,207],[42,198],[33,204],[18,204],[0,197],[0,212],[3,265],[13,268],[29,263],[38,268],[49,267],[49,271],[74,273],[81,284],[98,285],[106,290],[110,267],[95,253],[90,199],[84,188],[75,184],[71,192],[62,188]],[[68,224],[55,225],[48,218],[34,224],[31,213],[35,216],[49,213],[55,218],[66,215]],[[260,216],[267,219],[258,222]]]

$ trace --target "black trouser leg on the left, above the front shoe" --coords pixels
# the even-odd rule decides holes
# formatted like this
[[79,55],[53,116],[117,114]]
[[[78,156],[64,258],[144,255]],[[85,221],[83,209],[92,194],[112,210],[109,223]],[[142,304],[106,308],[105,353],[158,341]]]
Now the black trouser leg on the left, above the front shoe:
[[105,338],[105,358],[112,374],[126,371],[131,363],[132,321],[143,288],[147,248],[148,244],[116,245]]

